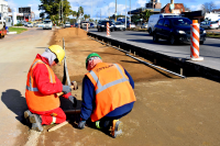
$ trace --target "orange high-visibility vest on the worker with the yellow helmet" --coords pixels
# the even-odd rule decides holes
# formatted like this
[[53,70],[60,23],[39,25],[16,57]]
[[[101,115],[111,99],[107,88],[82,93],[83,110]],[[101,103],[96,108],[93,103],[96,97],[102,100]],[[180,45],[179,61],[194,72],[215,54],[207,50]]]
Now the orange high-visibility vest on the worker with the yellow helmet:
[[44,96],[37,89],[35,80],[32,77],[33,69],[37,64],[44,64],[48,70],[50,82],[52,83],[56,82],[55,75],[52,68],[41,59],[35,59],[28,74],[26,92],[25,92],[26,104],[29,109],[33,111],[38,111],[38,112],[51,111],[58,108],[61,105],[61,101],[59,98],[56,97],[56,94]]

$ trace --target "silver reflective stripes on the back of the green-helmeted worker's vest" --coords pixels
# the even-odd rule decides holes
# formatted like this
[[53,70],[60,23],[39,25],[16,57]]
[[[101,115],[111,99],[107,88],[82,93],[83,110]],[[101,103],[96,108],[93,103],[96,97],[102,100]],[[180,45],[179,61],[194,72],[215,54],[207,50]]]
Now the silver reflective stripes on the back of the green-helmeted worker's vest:
[[122,76],[123,78],[122,78],[122,79],[114,80],[114,81],[109,82],[109,83],[103,85],[103,86],[101,86],[100,81],[98,80],[97,75],[96,75],[92,70],[90,71],[90,75],[91,75],[91,77],[94,78],[94,80],[97,82],[97,87],[98,87],[98,89],[96,90],[96,94],[100,93],[101,91],[106,90],[106,89],[109,88],[109,87],[116,86],[116,85],[121,83],[121,82],[124,82],[124,81],[129,81],[129,79],[127,79],[127,78],[123,76],[123,72],[122,72],[121,68],[120,68],[117,64],[113,64],[113,65],[117,67],[117,69],[119,70],[119,72],[121,74],[121,76]]

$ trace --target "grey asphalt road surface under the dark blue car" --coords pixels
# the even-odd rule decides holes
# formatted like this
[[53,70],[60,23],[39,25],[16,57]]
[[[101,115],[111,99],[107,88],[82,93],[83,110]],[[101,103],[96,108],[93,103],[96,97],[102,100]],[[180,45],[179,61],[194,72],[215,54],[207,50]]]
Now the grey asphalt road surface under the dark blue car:
[[[91,33],[96,33],[106,36],[106,32],[98,32],[96,29],[89,30]],[[189,44],[176,44],[169,45],[167,41],[160,40],[158,43],[153,42],[153,36],[150,36],[147,32],[134,32],[134,31],[114,31],[110,32],[110,37],[121,42],[127,42],[146,49],[151,49],[161,54],[165,54],[178,58],[190,57]],[[202,61],[196,61],[196,64],[210,67],[220,70],[220,40],[207,38],[204,45],[200,45],[199,56],[204,57]]]

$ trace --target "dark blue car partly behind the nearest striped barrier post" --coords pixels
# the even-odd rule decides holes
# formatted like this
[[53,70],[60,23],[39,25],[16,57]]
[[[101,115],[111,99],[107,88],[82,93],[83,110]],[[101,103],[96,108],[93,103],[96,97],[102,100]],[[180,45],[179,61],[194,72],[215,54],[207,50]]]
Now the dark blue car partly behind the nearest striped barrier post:
[[[167,40],[172,45],[175,43],[190,43],[190,24],[191,20],[187,18],[164,18],[160,19],[154,26],[153,41],[160,38]],[[206,41],[206,31],[200,27],[200,44]]]

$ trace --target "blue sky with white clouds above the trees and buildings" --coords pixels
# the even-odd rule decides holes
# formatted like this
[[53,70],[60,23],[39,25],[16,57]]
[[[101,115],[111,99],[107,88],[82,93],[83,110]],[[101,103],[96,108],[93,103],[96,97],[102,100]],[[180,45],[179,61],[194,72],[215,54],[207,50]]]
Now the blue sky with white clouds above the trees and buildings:
[[[100,19],[100,16],[107,18],[109,14],[112,15],[116,11],[116,0],[68,0],[72,5],[72,10],[77,11],[78,7],[81,5],[85,9],[86,14],[92,15],[94,19]],[[127,10],[134,10],[140,7],[144,7],[148,0],[117,0],[117,12],[118,14],[125,14],[125,1]],[[170,0],[160,0],[162,7],[166,3],[170,3]],[[32,11],[38,18],[38,4],[40,0],[8,0],[9,7],[15,9],[21,7],[31,7]],[[175,3],[183,3],[183,0],[174,0]],[[200,10],[201,4],[210,2],[208,0],[184,0],[184,4],[190,8],[193,11]],[[217,8],[220,9],[220,0],[213,0]]]

